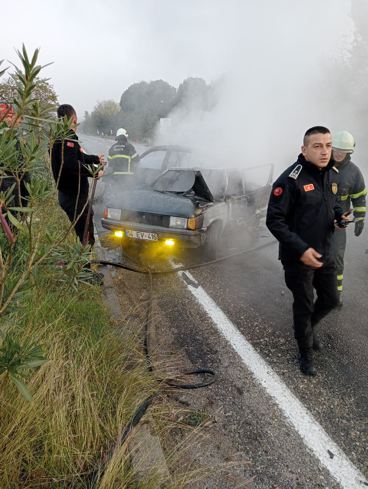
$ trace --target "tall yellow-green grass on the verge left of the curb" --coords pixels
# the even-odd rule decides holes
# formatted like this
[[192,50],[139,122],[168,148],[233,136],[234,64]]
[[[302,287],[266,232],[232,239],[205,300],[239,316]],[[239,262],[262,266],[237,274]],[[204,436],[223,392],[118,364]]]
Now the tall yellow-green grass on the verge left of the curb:
[[[55,199],[48,206],[45,227],[60,232],[67,223]],[[54,304],[60,291],[63,295]],[[31,296],[22,303],[19,326],[8,323],[1,328],[22,337],[34,302]],[[0,400],[0,487],[84,488],[150,393],[154,379],[140,353],[141,338],[128,331],[119,339],[97,287],[81,285],[76,292],[54,284],[33,323],[34,336],[45,345],[50,361],[31,372],[26,382],[32,404],[11,382],[5,387]],[[117,452],[119,463],[111,464],[98,488],[112,487],[117,480],[124,480],[119,487],[130,487],[127,448]]]

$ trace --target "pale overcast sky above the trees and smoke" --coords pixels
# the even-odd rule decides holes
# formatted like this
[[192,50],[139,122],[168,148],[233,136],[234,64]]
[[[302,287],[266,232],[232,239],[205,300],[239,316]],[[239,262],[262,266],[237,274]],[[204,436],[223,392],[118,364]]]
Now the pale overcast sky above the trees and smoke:
[[14,47],[41,47],[41,63],[54,62],[43,75],[81,117],[140,80],[178,87],[239,66],[270,81],[296,69],[313,78],[351,30],[349,8],[349,0],[8,1],[1,13],[12,31],[3,30],[1,58],[17,64]]

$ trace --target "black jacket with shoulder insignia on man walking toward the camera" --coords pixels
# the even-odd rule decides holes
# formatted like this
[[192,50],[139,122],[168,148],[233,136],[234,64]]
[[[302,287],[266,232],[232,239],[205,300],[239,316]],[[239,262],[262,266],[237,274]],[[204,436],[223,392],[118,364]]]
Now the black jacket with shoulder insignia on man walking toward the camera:
[[331,253],[334,220],[344,212],[333,165],[331,159],[319,170],[299,155],[274,183],[266,225],[280,242],[279,259],[299,261],[308,248],[321,253],[321,261]]

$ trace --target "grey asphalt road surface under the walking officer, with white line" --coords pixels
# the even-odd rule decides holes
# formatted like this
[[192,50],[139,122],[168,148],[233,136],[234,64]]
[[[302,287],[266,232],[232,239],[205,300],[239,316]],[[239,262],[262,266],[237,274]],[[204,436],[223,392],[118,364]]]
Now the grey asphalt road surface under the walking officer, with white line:
[[[108,143],[88,136],[82,147],[87,153],[99,153]],[[102,211],[103,205],[97,204],[100,235]],[[154,280],[159,348],[172,352],[178,361],[214,368],[220,376],[211,389],[186,395],[193,408],[217,416],[198,449],[198,464],[228,460],[229,454],[241,462],[216,480],[193,487],[230,488],[253,476],[247,487],[364,487],[368,477],[367,232],[356,238],[353,227],[347,230],[344,306],[320,324],[325,350],[315,354],[315,377],[303,376],[297,366],[292,296],[284,284],[277,244],[191,271],[198,288],[188,286],[179,274]],[[263,222],[253,235],[224,238],[222,254],[271,240]],[[123,260],[114,238],[105,234],[103,243],[110,259]],[[197,254],[178,252],[175,258],[189,264]],[[148,252],[140,259],[156,268],[171,266],[167,257]],[[147,288],[145,276],[114,274],[122,303],[128,289],[131,301]],[[327,450],[334,452],[333,459]]]

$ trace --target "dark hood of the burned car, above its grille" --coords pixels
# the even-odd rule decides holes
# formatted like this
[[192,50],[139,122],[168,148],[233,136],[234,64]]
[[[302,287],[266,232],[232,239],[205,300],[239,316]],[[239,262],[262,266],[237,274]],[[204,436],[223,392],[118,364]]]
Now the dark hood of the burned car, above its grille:
[[149,185],[140,185],[118,194],[108,202],[108,207],[193,218],[202,213],[206,204],[212,205],[212,202],[198,199],[197,196],[163,193]]

